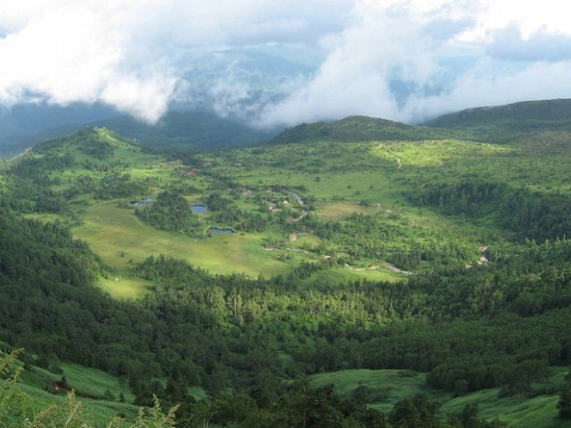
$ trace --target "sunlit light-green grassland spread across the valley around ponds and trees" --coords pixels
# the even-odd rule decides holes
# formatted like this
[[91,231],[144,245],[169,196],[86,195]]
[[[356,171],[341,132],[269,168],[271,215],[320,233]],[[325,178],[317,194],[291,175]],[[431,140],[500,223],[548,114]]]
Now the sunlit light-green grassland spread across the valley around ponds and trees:
[[[101,168],[82,168],[89,162],[120,165],[119,170],[133,180],[148,181],[146,193],[138,197],[156,197],[158,192],[173,185],[188,188],[183,196],[188,203],[203,203],[213,185],[223,197],[232,198],[233,204],[244,213],[257,213],[260,198],[275,200],[281,196],[283,206],[295,205],[296,198],[305,205],[290,205],[300,213],[314,215],[320,222],[350,223],[354,215],[375,218],[390,230],[390,236],[375,238],[382,248],[392,253],[409,251],[416,243],[434,243],[453,239],[465,248],[465,264],[475,263],[480,257],[479,248],[490,245],[502,237],[502,231],[487,218],[470,219],[443,216],[411,203],[406,196],[428,183],[450,183],[461,176],[477,175],[493,180],[517,180],[533,190],[552,191],[565,186],[557,180],[541,181],[537,159],[525,156],[525,151],[507,145],[495,145],[455,139],[426,141],[315,141],[292,143],[283,146],[266,146],[218,151],[195,156],[197,168],[185,167],[181,161],[142,153],[136,146],[106,130],[98,130],[98,138],[113,146],[112,158],[105,162],[90,158],[75,146],[71,153],[76,165],[60,171],[59,184],[54,190],[70,188],[81,176],[100,179],[106,175]],[[61,149],[59,149],[61,150]],[[549,156],[552,176],[560,178],[564,163],[557,156]],[[193,177],[184,174],[194,169]],[[545,177],[545,173],[541,176]],[[565,170],[565,175],[567,171]],[[220,187],[220,179],[231,180],[242,188]],[[559,184],[557,184],[559,183]],[[272,189],[285,188],[285,193]],[[567,186],[568,187],[568,186]],[[272,191],[271,191],[272,190]],[[233,194],[231,195],[233,191]],[[98,199],[82,195],[76,197],[84,205],[77,205],[79,225],[74,235],[86,240],[102,260],[111,267],[108,278],[98,285],[115,297],[128,298],[141,295],[146,282],[133,277],[133,263],[140,263],[150,255],[172,255],[187,260],[216,274],[242,273],[250,277],[270,277],[290,272],[303,261],[317,261],[331,255],[347,255],[347,247],[332,240],[324,240],[303,225],[290,223],[291,232],[268,225],[260,232],[241,232],[232,235],[209,234],[210,227],[230,227],[212,220],[213,213],[198,215],[203,233],[188,236],[157,230],[142,223],[128,207],[133,198]],[[268,199],[269,201],[270,199]],[[85,205],[86,204],[86,205]],[[268,202],[269,207],[275,204]],[[276,217],[280,208],[273,209]],[[304,215],[305,215],[304,214]],[[55,218],[55,217],[54,217]],[[54,220],[46,217],[44,220]],[[303,223],[303,222],[301,222]],[[350,239],[350,236],[347,236]],[[279,248],[268,248],[268,240],[281,241]],[[405,280],[406,275],[395,274],[387,268],[386,258],[352,256],[342,269],[319,272],[313,278],[320,282],[347,282],[350,280]],[[391,263],[392,264],[392,263]],[[374,267],[374,268],[371,268]],[[399,266],[397,266],[399,268]],[[421,263],[418,269],[430,268]]]

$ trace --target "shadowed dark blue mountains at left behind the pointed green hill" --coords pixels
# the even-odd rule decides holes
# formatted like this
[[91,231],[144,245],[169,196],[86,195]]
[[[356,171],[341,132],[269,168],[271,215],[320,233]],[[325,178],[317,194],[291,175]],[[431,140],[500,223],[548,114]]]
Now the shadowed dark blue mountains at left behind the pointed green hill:
[[155,125],[137,121],[104,106],[18,106],[0,114],[0,155],[16,154],[36,143],[64,136],[84,126],[108,128],[142,146],[161,151],[211,151],[252,146],[272,131],[201,111],[171,111]]

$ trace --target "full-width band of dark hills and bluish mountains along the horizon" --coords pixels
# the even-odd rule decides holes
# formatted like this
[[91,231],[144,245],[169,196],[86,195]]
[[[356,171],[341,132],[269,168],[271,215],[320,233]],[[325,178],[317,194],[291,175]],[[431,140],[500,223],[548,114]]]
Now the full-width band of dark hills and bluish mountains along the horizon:
[[[86,125],[109,128],[159,151],[212,151],[224,148],[312,141],[422,140],[455,136],[476,141],[557,140],[567,147],[571,99],[524,101],[505,106],[468,108],[434,118],[420,126],[368,116],[301,123],[276,135],[204,111],[171,111],[156,125],[116,116],[105,106],[17,106],[0,114],[0,154],[18,153],[47,138]],[[452,133],[450,133],[452,132]],[[545,136],[550,133],[549,136]],[[557,136],[554,136],[557,133]],[[532,143],[535,145],[535,143]],[[543,143],[542,143],[543,144]],[[550,146],[553,146],[550,143]]]

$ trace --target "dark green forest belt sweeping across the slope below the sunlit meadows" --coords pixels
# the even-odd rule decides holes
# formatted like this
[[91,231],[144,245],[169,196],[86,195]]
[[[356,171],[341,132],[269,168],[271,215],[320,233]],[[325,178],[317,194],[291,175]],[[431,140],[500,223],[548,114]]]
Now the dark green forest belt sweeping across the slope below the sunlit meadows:
[[282,379],[321,371],[418,370],[455,394],[496,386],[512,394],[532,392],[550,365],[571,363],[571,270],[556,267],[571,252],[566,241],[493,269],[311,289],[301,280],[320,265],[250,280],[158,257],[136,267],[156,284],[148,295],[117,302],[89,286],[104,267],[61,225],[5,212],[2,226],[1,337],[126,376],[138,404],[153,393],[169,399],[152,382],[158,376],[211,397],[231,388],[267,407]]

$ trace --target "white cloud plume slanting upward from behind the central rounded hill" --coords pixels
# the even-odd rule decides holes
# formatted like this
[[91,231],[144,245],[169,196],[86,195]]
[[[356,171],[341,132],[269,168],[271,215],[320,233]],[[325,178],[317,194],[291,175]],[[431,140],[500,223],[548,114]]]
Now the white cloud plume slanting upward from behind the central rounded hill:
[[[285,102],[270,106],[263,123],[292,124],[349,114],[403,118],[390,89],[395,73],[419,88],[430,84],[442,72],[438,49],[466,26],[457,10],[450,13],[440,4],[433,9],[422,5],[358,4],[354,24],[324,41],[330,54],[317,76]],[[436,34],[427,31],[435,22],[441,27]]]

